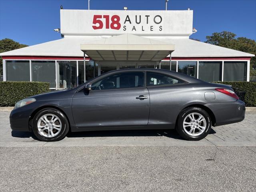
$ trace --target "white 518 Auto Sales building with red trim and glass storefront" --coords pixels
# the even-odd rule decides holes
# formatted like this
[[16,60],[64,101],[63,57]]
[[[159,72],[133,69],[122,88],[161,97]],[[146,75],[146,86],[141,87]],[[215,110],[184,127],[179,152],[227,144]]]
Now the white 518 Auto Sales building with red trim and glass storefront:
[[253,54],[189,39],[192,10],[62,9],[60,32],[59,40],[1,53],[3,80],[66,89],[124,68],[173,70],[207,82],[250,78]]

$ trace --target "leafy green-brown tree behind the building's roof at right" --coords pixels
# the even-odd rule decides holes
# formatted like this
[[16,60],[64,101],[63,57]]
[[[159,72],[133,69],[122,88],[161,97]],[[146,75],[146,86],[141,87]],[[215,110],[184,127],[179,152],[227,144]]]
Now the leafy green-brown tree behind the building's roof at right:
[[[206,36],[206,43],[230,48],[256,55],[255,40],[245,37],[236,38],[236,34],[228,31],[215,32],[212,36]],[[256,76],[256,57],[250,61],[250,76]]]

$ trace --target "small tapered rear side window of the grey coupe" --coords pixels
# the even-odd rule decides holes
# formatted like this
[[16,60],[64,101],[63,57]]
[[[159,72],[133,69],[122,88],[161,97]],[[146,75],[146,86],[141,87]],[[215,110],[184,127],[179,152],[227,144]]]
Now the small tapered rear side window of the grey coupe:
[[155,85],[172,85],[184,83],[184,81],[173,78],[166,74],[161,74],[157,72],[147,72],[147,86]]

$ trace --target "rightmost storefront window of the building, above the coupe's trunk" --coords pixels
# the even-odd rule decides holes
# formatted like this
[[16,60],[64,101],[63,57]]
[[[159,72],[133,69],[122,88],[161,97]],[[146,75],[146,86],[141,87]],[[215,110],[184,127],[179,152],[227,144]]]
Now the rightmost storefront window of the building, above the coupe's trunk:
[[246,81],[246,61],[224,61],[224,81]]

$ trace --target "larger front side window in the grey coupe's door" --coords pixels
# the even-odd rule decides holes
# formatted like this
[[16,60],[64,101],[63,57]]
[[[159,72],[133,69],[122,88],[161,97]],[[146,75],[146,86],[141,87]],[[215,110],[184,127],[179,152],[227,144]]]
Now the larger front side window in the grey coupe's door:
[[135,87],[144,87],[144,72],[116,73],[92,84],[92,90]]

